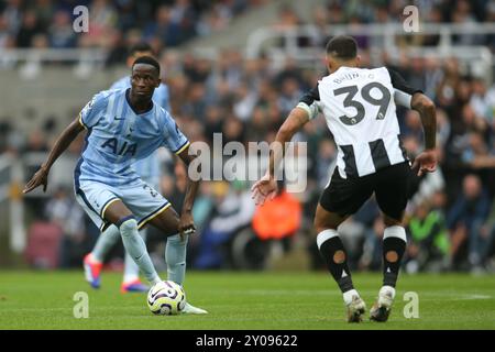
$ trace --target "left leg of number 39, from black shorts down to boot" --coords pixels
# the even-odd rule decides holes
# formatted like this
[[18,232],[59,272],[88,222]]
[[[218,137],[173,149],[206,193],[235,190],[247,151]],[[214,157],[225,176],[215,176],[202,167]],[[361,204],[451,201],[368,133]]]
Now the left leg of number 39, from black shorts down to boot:
[[318,249],[328,271],[342,292],[349,322],[362,320],[365,304],[352,283],[348,266],[348,253],[337,228],[354,213],[370,196],[371,191],[365,183],[342,179],[336,169],[329,186],[321,195],[315,216]]

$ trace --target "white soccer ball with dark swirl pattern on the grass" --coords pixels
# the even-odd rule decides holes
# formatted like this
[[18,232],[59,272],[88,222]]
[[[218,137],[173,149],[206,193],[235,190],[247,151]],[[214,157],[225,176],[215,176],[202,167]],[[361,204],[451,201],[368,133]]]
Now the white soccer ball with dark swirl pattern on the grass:
[[186,293],[174,282],[160,282],[147,293],[147,307],[154,315],[175,316],[186,306]]

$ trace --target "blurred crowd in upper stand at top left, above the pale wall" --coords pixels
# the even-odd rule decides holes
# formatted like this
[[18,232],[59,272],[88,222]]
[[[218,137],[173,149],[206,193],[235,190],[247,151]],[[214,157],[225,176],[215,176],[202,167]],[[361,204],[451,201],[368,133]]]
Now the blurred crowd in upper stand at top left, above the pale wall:
[[[105,47],[123,59],[125,45],[150,42],[156,51],[226,29],[250,7],[266,0],[2,0],[0,48]],[[88,33],[73,22],[88,9]],[[79,23],[79,22],[78,22]]]

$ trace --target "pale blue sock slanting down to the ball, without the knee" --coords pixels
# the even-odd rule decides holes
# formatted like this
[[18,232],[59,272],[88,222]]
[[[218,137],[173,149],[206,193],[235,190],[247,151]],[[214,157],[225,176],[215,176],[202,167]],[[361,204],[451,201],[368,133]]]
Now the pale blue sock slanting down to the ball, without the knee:
[[160,282],[160,276],[147,254],[146,244],[139,233],[138,221],[133,217],[128,217],[122,219],[118,226],[125,251],[132,256],[146,279],[151,284]]

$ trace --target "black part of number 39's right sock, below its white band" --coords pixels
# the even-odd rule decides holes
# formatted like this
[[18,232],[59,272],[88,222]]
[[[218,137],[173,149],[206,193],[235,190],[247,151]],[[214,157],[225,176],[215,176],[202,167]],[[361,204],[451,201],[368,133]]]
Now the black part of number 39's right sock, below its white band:
[[406,242],[399,238],[383,240],[383,285],[395,287]]

